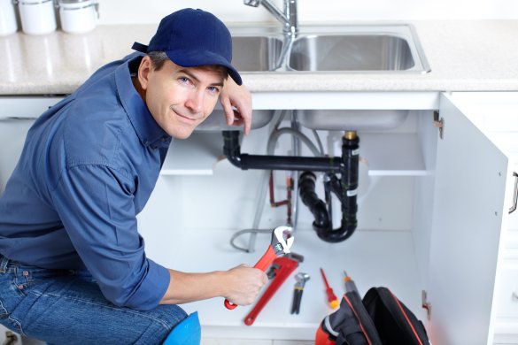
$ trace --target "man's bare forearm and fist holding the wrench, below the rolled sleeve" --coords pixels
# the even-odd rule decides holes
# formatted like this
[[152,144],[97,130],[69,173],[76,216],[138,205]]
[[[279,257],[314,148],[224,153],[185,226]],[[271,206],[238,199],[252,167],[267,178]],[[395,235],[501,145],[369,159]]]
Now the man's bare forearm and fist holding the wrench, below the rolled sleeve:
[[171,281],[160,304],[180,304],[224,297],[238,305],[253,303],[267,284],[265,272],[247,265],[228,271],[186,273],[169,270]]

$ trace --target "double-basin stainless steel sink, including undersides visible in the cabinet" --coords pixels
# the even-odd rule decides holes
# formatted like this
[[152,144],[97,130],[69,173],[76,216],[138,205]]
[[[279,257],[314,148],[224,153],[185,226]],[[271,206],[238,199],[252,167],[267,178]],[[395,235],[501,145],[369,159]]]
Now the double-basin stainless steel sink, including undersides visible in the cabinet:
[[[274,27],[235,27],[232,65],[240,73],[428,73],[414,28],[406,24],[303,27],[296,37]],[[216,111],[221,112],[221,111]],[[366,113],[364,113],[366,112]],[[367,114],[368,112],[368,114]],[[302,126],[368,130],[398,126],[407,111],[299,111]],[[252,128],[267,125],[273,111],[254,111]],[[213,114],[198,129],[225,129]]]

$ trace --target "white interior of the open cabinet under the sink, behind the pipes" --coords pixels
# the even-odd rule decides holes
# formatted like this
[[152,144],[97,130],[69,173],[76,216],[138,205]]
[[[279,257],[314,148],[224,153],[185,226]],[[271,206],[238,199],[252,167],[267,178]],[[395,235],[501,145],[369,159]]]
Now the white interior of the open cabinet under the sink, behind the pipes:
[[[290,126],[289,121],[283,121],[282,126]],[[265,154],[270,130],[264,127],[252,131],[243,139],[242,152]],[[313,138],[310,130],[302,128],[301,131]],[[342,132],[317,133],[325,153],[339,157]],[[189,140],[199,143],[197,135]],[[205,143],[200,149],[205,153],[220,152],[221,134],[205,132],[203,135]],[[406,121],[397,128],[359,132],[359,135],[359,226],[355,234],[345,242],[322,242],[312,229],[313,216],[298,202],[292,250],[305,257],[296,272],[307,272],[311,276],[305,285],[301,313],[290,315],[295,284],[292,277],[284,282],[253,326],[246,327],[242,321],[251,311],[250,306],[226,311],[222,299],[185,305],[188,311],[200,312],[207,336],[220,336],[221,330],[228,328],[232,330],[228,334],[235,337],[314,339],[316,326],[332,311],[326,303],[319,268],[325,270],[338,296],[344,293],[342,279],[346,271],[356,281],[360,295],[371,287],[388,287],[418,318],[426,320],[421,308],[421,291],[426,290],[428,279],[438,137],[433,111],[410,111]],[[291,141],[290,135],[283,135],[274,154],[291,154]],[[226,270],[242,263],[253,265],[267,249],[270,236],[258,234],[253,247],[255,252],[245,253],[231,247],[232,234],[251,228],[259,202],[265,203],[260,229],[286,224],[285,206],[271,207],[268,196],[258,200],[262,171],[239,170],[226,159],[220,159],[220,154],[207,160],[205,168],[197,174],[185,174],[191,171],[185,166],[189,161],[192,165],[199,164],[194,152],[189,152],[189,157],[183,155],[182,149],[187,143],[179,142],[175,146],[177,142],[173,142],[157,188],[139,215],[148,255],[160,264],[189,272]],[[211,149],[206,149],[207,146]],[[300,155],[312,156],[313,153],[301,144]],[[286,197],[285,180],[289,174],[274,172],[276,200]],[[321,173],[318,175],[317,193],[323,199]],[[339,210],[336,198],[333,209]],[[335,211],[333,223],[338,224],[340,217]],[[249,235],[244,234],[236,239],[236,244],[246,248],[249,241]]]

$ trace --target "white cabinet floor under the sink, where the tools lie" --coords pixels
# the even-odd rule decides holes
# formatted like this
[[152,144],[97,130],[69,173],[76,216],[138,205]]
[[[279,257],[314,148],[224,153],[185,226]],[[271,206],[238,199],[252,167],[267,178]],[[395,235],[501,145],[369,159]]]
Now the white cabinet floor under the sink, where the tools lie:
[[[160,239],[152,236],[148,239],[146,231],[143,229],[143,235],[147,247],[151,249],[148,251],[154,254],[153,259],[161,265],[184,272],[227,270],[243,263],[253,265],[270,241],[269,235],[259,234],[256,251],[248,254],[231,249],[228,243],[234,234],[231,230],[191,228],[189,231],[164,234]],[[152,234],[151,230],[149,234]],[[181,241],[178,239],[179,234]],[[350,240],[341,243],[322,242],[313,230],[302,227],[298,228],[295,236],[292,249],[304,256],[304,261],[284,281],[252,326],[244,326],[243,322],[251,306],[240,306],[228,311],[223,306],[222,298],[182,305],[188,312],[199,312],[206,337],[314,340],[322,318],[333,311],[326,300],[319,272],[321,267],[326,271],[329,284],[337,296],[344,294],[345,270],[355,280],[360,295],[365,295],[367,289],[372,287],[390,288],[419,318],[426,318],[421,309],[421,288],[415,283],[419,272],[410,231],[361,230]],[[197,251],[203,253],[203,265],[200,265],[199,260],[182,260],[182,257],[192,256],[191,246],[185,246],[185,243],[197,244]],[[305,285],[300,313],[291,315],[293,286],[296,282],[294,276],[297,272],[307,272],[311,279]]]

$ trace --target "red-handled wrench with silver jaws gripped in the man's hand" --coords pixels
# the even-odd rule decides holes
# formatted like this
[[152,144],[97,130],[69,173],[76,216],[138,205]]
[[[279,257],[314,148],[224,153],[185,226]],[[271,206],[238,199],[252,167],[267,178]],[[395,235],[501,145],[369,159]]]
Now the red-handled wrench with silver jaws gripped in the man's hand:
[[[266,272],[267,268],[272,265],[276,257],[282,257],[290,253],[290,248],[293,245],[295,238],[291,236],[293,228],[290,226],[277,226],[272,231],[272,242],[268,246],[265,254],[259,259],[255,268],[259,268],[262,272]],[[225,300],[225,307],[227,309],[235,309],[237,304]]]

